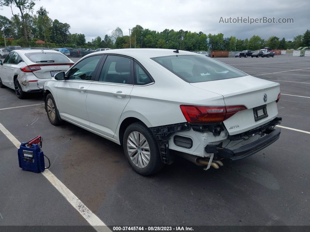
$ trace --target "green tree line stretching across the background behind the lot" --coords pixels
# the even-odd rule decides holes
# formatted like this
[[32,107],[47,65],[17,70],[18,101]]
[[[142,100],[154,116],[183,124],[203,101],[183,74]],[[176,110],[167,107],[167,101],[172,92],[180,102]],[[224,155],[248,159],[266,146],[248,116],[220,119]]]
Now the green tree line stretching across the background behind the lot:
[[[111,35],[106,34],[86,42],[85,34],[69,32],[70,25],[59,20],[52,20],[48,11],[40,7],[33,12],[35,0],[0,0],[0,6],[16,7],[20,10],[9,19],[0,15],[0,29],[6,37],[14,38],[7,41],[7,45],[42,46],[35,42],[42,40],[43,46],[49,47],[94,47],[94,48],[168,48],[191,51],[202,50],[258,50],[263,47],[272,49],[297,49],[301,46],[310,46],[310,30],[303,35],[297,35],[293,41],[285,38],[271,36],[268,40],[259,35],[253,35],[250,39],[238,39],[236,37],[224,37],[223,33],[207,34],[203,32],[191,32],[173,29],[165,29],[162,32],[143,28],[136,25],[131,28],[131,36],[124,36],[122,29],[117,27]],[[4,39],[0,36],[0,46],[4,46]]]

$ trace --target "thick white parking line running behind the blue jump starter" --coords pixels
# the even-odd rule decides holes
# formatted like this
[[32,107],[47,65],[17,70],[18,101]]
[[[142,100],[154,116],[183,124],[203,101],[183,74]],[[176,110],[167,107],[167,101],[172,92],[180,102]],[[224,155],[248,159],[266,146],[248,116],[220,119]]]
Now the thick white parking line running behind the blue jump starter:
[[[20,147],[20,142],[11,134],[1,123],[0,130],[15,145]],[[86,221],[94,227],[96,231],[111,231],[103,221],[99,219],[83,202],[78,199],[51,171],[46,169],[42,175],[64,196],[64,198],[86,219]]]

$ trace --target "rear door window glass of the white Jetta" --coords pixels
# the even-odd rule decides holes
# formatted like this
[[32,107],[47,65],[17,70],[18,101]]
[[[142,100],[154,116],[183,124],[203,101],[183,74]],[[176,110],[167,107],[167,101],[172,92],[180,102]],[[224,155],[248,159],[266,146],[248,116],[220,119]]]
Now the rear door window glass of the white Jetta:
[[98,81],[131,84],[133,60],[127,57],[108,55]]

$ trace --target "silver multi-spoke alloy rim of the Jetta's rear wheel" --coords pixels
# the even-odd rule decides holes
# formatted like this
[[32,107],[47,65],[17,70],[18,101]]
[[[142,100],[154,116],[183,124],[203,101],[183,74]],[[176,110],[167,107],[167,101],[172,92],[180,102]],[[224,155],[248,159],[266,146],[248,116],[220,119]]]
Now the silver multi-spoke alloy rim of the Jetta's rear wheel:
[[127,138],[127,151],[131,161],[139,168],[145,168],[150,162],[151,153],[148,141],[143,134],[133,131]]

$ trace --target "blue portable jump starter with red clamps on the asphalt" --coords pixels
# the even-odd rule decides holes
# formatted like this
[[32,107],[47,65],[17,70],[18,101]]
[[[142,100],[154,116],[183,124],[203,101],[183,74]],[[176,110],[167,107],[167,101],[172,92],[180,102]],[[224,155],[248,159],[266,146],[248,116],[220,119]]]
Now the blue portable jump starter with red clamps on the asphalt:
[[[29,142],[23,142],[18,149],[18,162],[20,168],[24,171],[31,171],[34,173],[43,172],[51,166],[50,160],[41,150],[42,137],[41,135],[33,138]],[[44,163],[44,156],[47,158],[49,166],[46,168]]]

